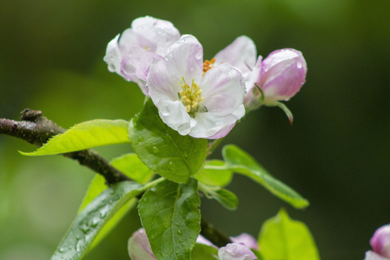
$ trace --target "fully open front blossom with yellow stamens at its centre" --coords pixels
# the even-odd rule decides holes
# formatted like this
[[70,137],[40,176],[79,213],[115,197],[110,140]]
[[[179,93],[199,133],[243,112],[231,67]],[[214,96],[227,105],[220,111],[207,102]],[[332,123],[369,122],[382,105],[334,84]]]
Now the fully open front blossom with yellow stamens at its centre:
[[192,35],[172,44],[164,60],[153,59],[144,92],[181,135],[218,139],[245,114],[242,74],[227,63],[204,69],[202,45]]

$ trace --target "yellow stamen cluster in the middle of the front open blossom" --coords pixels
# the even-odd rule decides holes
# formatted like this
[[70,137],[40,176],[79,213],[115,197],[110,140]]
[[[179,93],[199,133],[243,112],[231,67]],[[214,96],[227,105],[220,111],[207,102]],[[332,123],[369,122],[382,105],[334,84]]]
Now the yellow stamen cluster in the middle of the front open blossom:
[[192,79],[191,87],[186,83],[184,77],[182,77],[182,79],[183,82],[179,81],[179,85],[183,89],[179,92],[181,102],[186,107],[187,113],[193,113],[199,102],[203,100],[202,90],[200,90],[198,84],[194,82],[194,79]]

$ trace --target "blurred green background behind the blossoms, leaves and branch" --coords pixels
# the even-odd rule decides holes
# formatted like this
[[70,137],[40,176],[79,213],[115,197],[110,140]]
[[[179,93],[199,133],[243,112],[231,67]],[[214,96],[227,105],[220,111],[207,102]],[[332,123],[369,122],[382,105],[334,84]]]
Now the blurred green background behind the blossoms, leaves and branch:
[[[390,1],[0,1],[0,117],[42,110],[63,127],[91,119],[130,119],[139,88],[109,73],[106,44],[145,15],[167,19],[204,46],[204,58],[248,35],[259,55],[303,52],[307,83],[277,108],[261,108],[223,143],[236,143],[310,200],[295,210],[245,177],[228,187],[230,212],[202,200],[202,214],[229,235],[254,236],[280,207],[304,221],[323,260],[362,259],[372,233],[390,222]],[[0,136],[0,259],[49,259],[73,220],[90,179],[61,156],[23,157],[24,141]],[[97,149],[111,159],[129,145]],[[220,158],[220,149],[215,158]],[[140,226],[133,210],[85,259],[129,259]]]

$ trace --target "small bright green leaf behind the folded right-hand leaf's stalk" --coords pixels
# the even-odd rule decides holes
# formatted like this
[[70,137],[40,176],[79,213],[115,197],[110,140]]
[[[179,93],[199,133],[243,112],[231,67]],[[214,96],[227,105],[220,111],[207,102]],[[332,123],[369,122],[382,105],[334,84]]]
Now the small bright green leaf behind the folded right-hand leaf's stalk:
[[224,166],[225,163],[220,160],[206,161],[203,169],[194,175],[194,178],[208,186],[224,187],[230,183],[233,178],[233,172],[230,170],[216,170],[213,166]]

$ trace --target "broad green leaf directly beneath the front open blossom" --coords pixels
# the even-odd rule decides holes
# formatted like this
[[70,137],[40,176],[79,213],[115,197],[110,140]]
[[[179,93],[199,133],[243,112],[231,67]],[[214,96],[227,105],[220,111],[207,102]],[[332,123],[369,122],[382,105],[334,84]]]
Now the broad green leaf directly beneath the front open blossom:
[[206,159],[207,140],[182,136],[168,127],[151,99],[131,120],[129,138],[142,162],[176,182],[187,182]]

